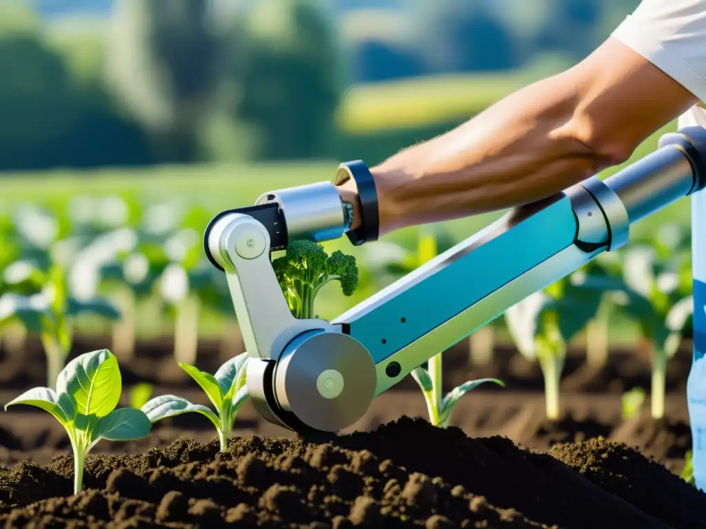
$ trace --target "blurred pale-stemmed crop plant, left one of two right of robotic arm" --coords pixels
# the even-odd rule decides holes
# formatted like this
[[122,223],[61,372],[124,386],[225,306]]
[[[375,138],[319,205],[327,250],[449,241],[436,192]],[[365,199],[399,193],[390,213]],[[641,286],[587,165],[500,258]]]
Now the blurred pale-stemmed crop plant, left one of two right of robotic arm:
[[559,383],[571,339],[595,317],[603,293],[568,276],[505,311],[510,336],[520,353],[536,360],[544,375],[546,416],[560,416]]

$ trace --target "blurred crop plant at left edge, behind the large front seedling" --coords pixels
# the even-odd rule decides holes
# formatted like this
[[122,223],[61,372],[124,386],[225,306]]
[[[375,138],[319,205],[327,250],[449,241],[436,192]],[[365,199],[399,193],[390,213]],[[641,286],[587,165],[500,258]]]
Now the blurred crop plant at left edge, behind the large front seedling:
[[77,299],[68,291],[67,274],[52,264],[44,272],[32,262],[15,262],[4,273],[8,288],[0,297],[0,324],[22,322],[28,332],[37,333],[47,355],[47,385],[52,386],[64,368],[73,346],[78,317],[97,315],[109,321],[120,313],[104,298]]

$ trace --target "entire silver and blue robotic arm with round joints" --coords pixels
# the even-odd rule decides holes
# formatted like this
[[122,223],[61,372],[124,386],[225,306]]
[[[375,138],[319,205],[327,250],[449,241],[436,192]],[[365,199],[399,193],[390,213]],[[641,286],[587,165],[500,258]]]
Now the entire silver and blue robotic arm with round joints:
[[[376,197],[363,180],[365,223],[376,221]],[[375,396],[433,355],[626,244],[630,224],[705,187],[706,130],[666,134],[639,162],[506,214],[331,322],[292,316],[270,253],[289,240],[345,233],[333,183],[265,193],[254,206],[222,212],[204,245],[227,276],[250,357],[253,405],[300,434],[332,433],[354,424]]]

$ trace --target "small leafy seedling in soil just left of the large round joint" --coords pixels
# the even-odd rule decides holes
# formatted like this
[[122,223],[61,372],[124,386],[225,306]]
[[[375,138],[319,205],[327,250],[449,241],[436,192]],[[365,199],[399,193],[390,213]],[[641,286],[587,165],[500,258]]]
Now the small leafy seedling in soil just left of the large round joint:
[[241,353],[219,367],[215,375],[200,371],[193,365],[179,364],[205,391],[216,408],[215,412],[207,406],[192,404],[176,395],[155,397],[140,409],[152,423],[182,413],[201,413],[213,422],[220,439],[220,449],[225,451],[238,410],[248,398],[248,387],[245,384],[247,362],[248,353]]

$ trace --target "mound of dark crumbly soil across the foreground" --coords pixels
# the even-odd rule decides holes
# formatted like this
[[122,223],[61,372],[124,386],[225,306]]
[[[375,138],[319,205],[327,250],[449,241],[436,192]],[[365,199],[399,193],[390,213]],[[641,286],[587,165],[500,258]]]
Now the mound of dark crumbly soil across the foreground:
[[[559,446],[554,457],[501,437],[472,439],[462,430],[409,418],[323,444],[239,437],[225,453],[216,442],[179,439],[141,454],[90,456],[86,490],[76,496],[71,496],[71,457],[47,466],[25,461],[13,470],[0,468],[0,523],[6,528],[706,527],[700,517],[706,495],[657,463],[630,452],[626,464],[619,456],[626,449],[605,442]],[[617,459],[604,458],[606,451]],[[607,478],[596,477],[602,475]],[[641,483],[640,494],[623,490],[635,482]]]

